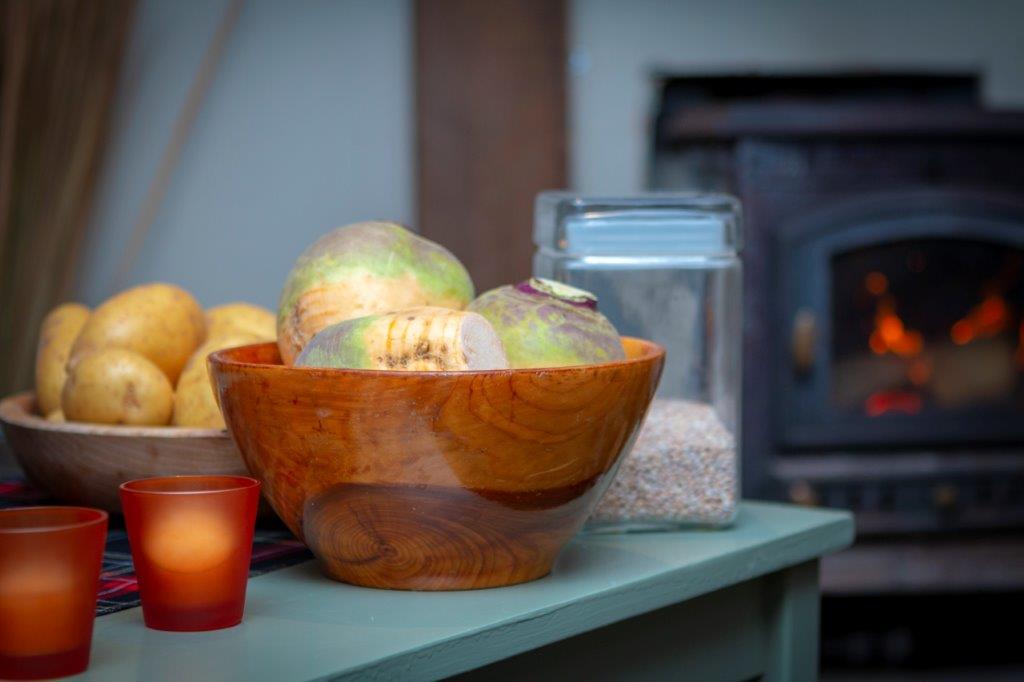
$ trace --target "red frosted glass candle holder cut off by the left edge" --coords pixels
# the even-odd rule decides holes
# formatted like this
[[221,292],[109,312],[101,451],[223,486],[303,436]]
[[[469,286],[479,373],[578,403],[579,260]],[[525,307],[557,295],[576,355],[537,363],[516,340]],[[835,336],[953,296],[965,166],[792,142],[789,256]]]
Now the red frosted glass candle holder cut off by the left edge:
[[0,510],[0,679],[88,667],[105,541],[98,509]]

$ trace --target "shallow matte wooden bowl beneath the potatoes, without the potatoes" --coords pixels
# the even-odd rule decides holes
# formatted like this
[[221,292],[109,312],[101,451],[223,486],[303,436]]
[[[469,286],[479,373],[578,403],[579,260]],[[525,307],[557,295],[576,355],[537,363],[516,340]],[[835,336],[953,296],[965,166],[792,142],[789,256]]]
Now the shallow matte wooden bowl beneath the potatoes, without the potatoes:
[[32,393],[0,401],[0,422],[30,480],[70,504],[120,512],[118,486],[126,480],[249,474],[223,429],[48,422]]

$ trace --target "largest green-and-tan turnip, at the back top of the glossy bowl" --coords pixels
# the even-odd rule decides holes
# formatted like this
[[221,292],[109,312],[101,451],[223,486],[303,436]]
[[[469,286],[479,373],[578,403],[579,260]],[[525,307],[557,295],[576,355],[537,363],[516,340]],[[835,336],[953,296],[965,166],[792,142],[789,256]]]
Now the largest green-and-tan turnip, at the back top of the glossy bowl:
[[321,330],[424,305],[462,309],[473,283],[447,249],[393,222],[357,222],[306,249],[285,282],[278,345],[291,365]]

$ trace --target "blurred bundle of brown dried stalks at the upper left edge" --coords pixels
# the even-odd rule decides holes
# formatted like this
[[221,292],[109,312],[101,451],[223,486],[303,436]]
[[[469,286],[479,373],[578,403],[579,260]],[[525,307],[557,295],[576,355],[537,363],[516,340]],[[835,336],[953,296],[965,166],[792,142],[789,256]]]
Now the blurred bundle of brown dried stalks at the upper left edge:
[[0,395],[71,293],[135,0],[0,0]]

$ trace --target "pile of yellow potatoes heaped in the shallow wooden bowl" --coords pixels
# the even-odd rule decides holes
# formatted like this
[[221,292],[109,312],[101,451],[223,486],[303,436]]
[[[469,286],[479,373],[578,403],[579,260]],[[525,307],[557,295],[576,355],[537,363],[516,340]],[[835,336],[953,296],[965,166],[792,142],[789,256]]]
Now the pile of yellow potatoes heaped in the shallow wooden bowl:
[[90,311],[46,315],[36,352],[36,403],[51,421],[223,428],[206,357],[276,338],[269,310],[229,303],[204,311],[179,287],[128,289]]

